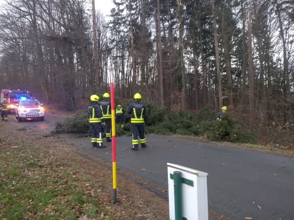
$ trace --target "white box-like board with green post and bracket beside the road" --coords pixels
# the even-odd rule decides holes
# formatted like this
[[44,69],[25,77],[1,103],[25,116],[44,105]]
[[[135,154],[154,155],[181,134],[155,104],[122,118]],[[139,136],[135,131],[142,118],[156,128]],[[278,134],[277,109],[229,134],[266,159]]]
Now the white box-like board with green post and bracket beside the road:
[[208,220],[208,173],[167,165],[170,220]]

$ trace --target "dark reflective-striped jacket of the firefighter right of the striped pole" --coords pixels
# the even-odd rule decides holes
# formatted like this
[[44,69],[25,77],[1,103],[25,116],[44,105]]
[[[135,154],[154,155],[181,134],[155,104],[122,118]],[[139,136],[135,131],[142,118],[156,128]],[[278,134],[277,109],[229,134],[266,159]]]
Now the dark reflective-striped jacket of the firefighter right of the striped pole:
[[143,102],[136,100],[129,105],[127,113],[131,116],[131,123],[144,123],[146,106]]

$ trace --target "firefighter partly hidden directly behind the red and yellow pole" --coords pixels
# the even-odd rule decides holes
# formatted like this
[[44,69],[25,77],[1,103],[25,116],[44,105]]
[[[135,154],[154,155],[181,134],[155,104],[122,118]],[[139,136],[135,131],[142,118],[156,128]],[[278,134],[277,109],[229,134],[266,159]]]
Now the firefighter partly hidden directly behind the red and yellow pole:
[[103,100],[99,102],[103,114],[103,121],[105,122],[105,136],[106,142],[111,142],[111,102],[108,93],[103,94]]

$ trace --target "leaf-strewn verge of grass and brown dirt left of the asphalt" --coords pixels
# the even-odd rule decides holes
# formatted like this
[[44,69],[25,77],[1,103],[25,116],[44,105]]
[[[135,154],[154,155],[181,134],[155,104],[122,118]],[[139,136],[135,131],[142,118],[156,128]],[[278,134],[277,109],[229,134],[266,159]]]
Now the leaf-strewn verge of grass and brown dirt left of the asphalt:
[[169,219],[167,201],[122,176],[113,204],[112,171],[80,157],[58,138],[5,126],[0,220]]

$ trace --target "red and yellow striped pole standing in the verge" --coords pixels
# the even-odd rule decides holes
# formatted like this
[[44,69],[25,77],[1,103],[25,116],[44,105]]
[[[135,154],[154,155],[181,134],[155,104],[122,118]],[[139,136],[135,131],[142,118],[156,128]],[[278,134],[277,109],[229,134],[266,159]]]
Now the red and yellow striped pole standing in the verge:
[[110,83],[111,97],[111,129],[112,129],[112,178],[113,178],[113,203],[117,203],[117,176],[116,176],[116,148],[115,148],[115,103],[113,82]]

